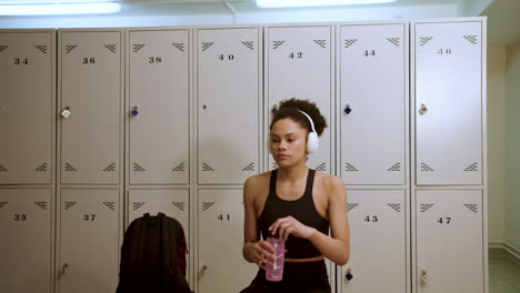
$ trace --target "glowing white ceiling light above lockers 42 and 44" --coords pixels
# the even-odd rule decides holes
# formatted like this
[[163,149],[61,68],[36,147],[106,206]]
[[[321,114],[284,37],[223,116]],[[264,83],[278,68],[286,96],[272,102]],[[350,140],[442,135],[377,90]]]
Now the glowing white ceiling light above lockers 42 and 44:
[[391,3],[397,0],[257,0],[262,8]]

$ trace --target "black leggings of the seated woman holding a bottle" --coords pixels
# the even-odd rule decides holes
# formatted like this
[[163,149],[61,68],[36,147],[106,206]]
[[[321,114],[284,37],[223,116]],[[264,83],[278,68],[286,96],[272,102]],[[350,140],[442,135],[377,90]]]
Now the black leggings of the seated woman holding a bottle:
[[257,276],[240,293],[330,293],[329,276],[324,261],[311,263],[284,263],[283,279],[280,282],[266,280],[266,271],[259,270]]

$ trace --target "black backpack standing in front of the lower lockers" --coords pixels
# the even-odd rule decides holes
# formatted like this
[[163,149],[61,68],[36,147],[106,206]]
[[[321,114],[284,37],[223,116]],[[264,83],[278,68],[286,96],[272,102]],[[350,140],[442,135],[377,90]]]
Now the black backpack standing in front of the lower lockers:
[[186,281],[186,238],[173,218],[146,213],[124,232],[116,293],[192,293]]

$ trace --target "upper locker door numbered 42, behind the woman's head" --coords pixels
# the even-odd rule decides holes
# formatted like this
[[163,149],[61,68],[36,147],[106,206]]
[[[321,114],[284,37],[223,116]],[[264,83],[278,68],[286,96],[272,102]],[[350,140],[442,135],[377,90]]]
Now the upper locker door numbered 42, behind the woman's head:
[[[307,164],[318,171],[331,172],[331,127],[333,119],[333,36],[332,28],[267,28],[267,107],[271,113],[281,100],[297,98],[316,102],[328,128],[320,137],[318,152]],[[268,114],[267,133],[271,115]],[[267,138],[266,138],[267,139]],[[263,145],[263,144],[262,144]],[[278,168],[269,155],[269,168]]]

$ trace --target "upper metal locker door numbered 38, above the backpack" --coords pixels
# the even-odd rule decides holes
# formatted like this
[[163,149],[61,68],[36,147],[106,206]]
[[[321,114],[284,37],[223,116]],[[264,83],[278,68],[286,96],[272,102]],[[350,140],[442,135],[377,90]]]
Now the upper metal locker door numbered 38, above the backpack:
[[188,30],[129,36],[130,184],[189,183]]

